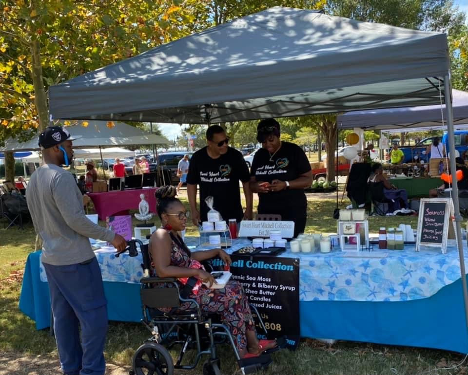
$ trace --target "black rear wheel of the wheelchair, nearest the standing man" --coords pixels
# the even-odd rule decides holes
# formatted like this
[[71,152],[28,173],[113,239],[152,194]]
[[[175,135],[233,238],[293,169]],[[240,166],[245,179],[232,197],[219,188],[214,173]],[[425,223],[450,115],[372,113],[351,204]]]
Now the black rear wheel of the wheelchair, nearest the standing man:
[[141,345],[133,356],[135,375],[173,375],[174,362],[167,349],[155,342]]

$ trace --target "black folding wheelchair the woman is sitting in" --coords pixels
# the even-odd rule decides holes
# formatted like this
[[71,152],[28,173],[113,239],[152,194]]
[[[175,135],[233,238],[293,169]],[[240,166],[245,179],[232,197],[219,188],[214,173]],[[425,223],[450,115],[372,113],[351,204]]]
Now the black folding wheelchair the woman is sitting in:
[[[216,345],[221,343],[231,344],[242,374],[252,374],[270,365],[270,354],[241,359],[229,328],[215,314],[203,312],[195,300],[183,298],[176,278],[150,277],[148,244],[142,244],[139,240],[131,241],[131,256],[132,252],[133,256],[137,255],[135,242],[140,244],[143,257],[144,276],[140,280],[143,309],[141,321],[151,332],[151,337],[135,352],[130,375],[172,375],[175,369],[192,370],[202,356],[208,356],[203,363],[203,375],[220,375],[221,361],[216,355]],[[181,304],[187,302],[190,303],[189,309],[180,309]],[[158,310],[160,308],[165,308],[168,312]],[[267,330],[258,310],[252,305],[251,309],[266,334]],[[176,362],[168,351],[175,345],[181,345]],[[191,363],[182,364],[184,355],[190,350],[195,350],[195,358]]]

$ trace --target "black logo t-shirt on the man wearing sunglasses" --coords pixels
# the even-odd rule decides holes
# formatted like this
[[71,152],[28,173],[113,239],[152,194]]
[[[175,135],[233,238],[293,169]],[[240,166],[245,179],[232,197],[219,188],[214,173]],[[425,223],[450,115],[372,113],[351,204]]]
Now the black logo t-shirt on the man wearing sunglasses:
[[209,207],[205,198],[213,196],[213,208],[223,220],[242,220],[244,213],[240,202],[239,180],[248,182],[249,169],[242,154],[229,147],[228,152],[213,159],[207,147],[196,151],[190,159],[187,184],[200,186],[200,219],[207,220]]

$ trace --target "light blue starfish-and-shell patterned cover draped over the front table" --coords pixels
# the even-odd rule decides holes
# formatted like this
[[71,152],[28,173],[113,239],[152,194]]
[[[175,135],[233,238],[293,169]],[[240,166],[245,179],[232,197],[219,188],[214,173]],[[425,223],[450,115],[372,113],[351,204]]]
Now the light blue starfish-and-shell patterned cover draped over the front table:
[[[198,239],[188,237],[195,246]],[[450,241],[453,243],[453,241]],[[115,249],[105,246],[96,251],[104,281],[139,283],[141,255],[130,258],[128,253],[115,257]],[[249,246],[246,239],[235,240],[228,252]],[[403,251],[291,253],[289,244],[281,257],[300,258],[300,300],[340,301],[405,301],[433,296],[441,288],[460,279],[458,251],[448,246],[447,254],[440,250],[414,251],[406,245]],[[467,256],[468,258],[468,256]],[[468,264],[467,264],[468,267]],[[40,267],[42,281],[47,281]]]

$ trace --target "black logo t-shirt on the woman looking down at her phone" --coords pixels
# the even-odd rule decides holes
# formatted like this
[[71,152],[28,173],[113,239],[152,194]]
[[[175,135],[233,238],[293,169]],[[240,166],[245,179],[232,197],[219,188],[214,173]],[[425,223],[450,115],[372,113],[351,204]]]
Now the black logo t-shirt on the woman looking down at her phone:
[[[311,170],[311,164],[304,151],[290,142],[281,142],[281,147],[270,156],[266,149],[255,153],[250,170],[257,181],[292,181]],[[302,206],[307,204],[304,189],[284,189],[259,193],[259,207],[263,206]]]

